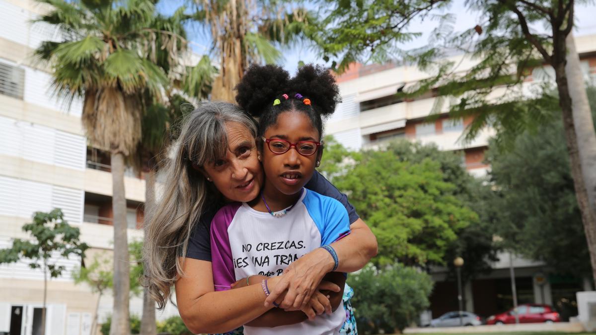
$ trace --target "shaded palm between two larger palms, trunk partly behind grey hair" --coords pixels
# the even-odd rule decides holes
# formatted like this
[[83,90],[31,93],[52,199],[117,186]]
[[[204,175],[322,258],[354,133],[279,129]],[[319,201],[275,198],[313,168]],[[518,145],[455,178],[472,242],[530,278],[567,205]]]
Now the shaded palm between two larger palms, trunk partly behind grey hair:
[[[152,26],[154,29],[169,31],[177,36],[186,38],[184,21],[189,17],[184,14],[185,8],[181,7],[170,17],[157,15]],[[182,116],[182,106],[189,101],[197,101],[206,98],[211,90],[213,76],[216,73],[215,67],[207,56],[203,56],[193,66],[182,64],[184,57],[169,57],[171,48],[163,45],[162,42],[176,42],[172,47],[177,54],[188,52],[187,44],[181,41],[158,40],[155,45],[157,66],[165,73],[168,73],[169,85],[164,91],[165,101],[161,97],[154,97],[151,91],[145,90],[143,99],[145,108],[141,120],[141,141],[136,148],[135,154],[131,155],[131,165],[138,172],[144,172],[145,179],[145,216],[144,227],[151,221],[152,209],[154,208],[156,175],[159,170],[158,162],[167,159],[164,148],[167,148],[174,139],[171,132],[171,125]],[[185,96],[181,95],[184,94]],[[147,236],[145,234],[145,236]],[[143,313],[141,318],[141,334],[155,335],[156,330],[155,301],[148,293],[147,287],[143,291]]]

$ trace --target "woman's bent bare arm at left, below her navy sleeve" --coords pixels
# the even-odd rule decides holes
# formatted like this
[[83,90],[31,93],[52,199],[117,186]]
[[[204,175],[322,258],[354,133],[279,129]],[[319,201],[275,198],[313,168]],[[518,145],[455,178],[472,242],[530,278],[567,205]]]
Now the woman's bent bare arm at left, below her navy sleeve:
[[[176,281],[176,303],[182,321],[192,333],[224,333],[247,324],[273,308],[272,305],[263,306],[265,293],[260,285],[214,291],[211,262],[192,258],[181,259],[181,261],[184,261],[182,265],[184,276]],[[283,277],[284,275],[281,275],[269,279],[267,282],[269,290],[275,289],[277,282]],[[330,283],[326,284],[326,288],[336,291],[340,289]],[[278,310],[281,311],[281,309]],[[302,321],[288,321],[285,324]],[[263,324],[263,327],[274,327],[274,325]]]

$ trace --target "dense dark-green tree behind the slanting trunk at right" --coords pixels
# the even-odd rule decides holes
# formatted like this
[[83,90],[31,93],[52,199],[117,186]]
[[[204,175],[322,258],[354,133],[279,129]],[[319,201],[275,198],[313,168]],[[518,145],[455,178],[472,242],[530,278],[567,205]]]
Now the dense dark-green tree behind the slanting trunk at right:
[[[589,97],[596,111],[596,89],[589,89]],[[512,147],[491,143],[487,159],[500,195],[492,204],[500,213],[495,223],[508,249],[541,260],[560,274],[583,277],[591,274],[589,251],[563,121],[554,107],[550,111],[552,122],[517,136]]]

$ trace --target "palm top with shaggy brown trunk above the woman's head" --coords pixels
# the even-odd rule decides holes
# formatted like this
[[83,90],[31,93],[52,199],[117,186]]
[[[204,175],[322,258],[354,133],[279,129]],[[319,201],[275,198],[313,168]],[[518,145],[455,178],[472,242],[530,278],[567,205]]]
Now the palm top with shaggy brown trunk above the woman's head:
[[195,18],[209,30],[221,70],[213,82],[212,99],[234,102],[233,89],[253,63],[276,63],[276,48],[297,41],[314,19],[290,1],[194,0]]

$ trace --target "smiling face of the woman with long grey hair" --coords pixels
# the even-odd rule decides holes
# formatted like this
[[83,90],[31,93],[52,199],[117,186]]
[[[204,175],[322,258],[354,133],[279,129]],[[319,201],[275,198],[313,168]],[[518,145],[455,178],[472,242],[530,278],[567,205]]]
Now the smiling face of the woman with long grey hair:
[[238,122],[227,122],[226,156],[203,166],[203,174],[230,201],[250,201],[259,195],[263,170],[253,135]]

